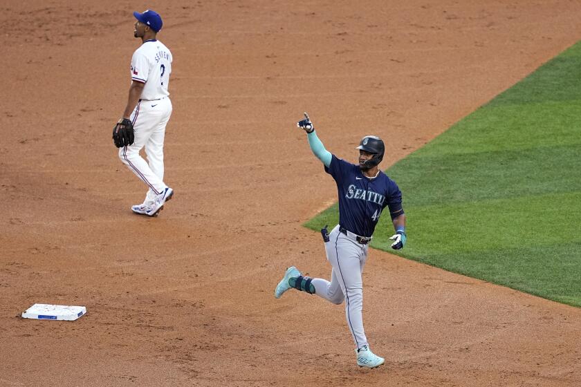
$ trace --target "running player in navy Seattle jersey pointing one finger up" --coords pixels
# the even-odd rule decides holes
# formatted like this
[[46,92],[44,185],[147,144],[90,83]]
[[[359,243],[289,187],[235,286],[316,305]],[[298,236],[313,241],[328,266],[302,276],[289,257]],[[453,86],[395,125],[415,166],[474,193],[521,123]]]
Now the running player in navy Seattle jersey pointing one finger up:
[[363,330],[363,282],[362,272],[367,261],[367,249],[374,229],[385,207],[388,207],[396,234],[391,236],[393,249],[401,249],[406,242],[405,215],[401,204],[401,192],[396,183],[378,169],[385,153],[383,141],[367,135],[359,147],[358,164],[341,160],[327,151],[317,138],[317,133],[304,114],[297,126],[306,131],[308,144],[337,183],[339,194],[339,224],[329,233],[322,229],[327,260],[331,263],[331,281],[302,276],[296,267],[286,270],[275,289],[278,299],[291,288],[301,290],[340,304],[345,302],[347,325],[356,345],[357,364],[375,368],[384,363],[369,349]]

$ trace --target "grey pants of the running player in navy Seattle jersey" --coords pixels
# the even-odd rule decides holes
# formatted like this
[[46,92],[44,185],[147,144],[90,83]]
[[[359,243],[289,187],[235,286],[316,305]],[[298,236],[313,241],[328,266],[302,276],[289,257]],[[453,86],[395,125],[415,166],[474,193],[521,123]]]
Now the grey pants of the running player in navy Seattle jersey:
[[339,231],[337,225],[329,233],[329,242],[325,243],[327,260],[331,263],[331,282],[324,279],[313,279],[317,296],[340,304],[345,301],[347,325],[351,330],[356,349],[367,346],[367,337],[363,330],[363,267],[367,261],[369,245],[362,245],[349,239]]

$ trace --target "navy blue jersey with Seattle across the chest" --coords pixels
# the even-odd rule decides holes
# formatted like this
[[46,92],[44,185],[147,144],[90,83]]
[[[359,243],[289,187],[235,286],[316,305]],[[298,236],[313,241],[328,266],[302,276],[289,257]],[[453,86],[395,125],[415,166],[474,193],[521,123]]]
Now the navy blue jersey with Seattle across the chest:
[[337,183],[339,224],[350,232],[367,237],[373,235],[386,206],[392,218],[403,214],[401,191],[382,171],[376,178],[367,178],[358,165],[333,155],[325,172]]

